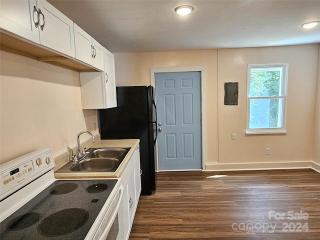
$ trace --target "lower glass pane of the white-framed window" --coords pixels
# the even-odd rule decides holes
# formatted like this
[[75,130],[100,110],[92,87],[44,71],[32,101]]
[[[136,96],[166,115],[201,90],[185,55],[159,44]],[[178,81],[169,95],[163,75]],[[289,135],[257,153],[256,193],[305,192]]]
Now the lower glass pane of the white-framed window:
[[282,98],[249,101],[249,128],[282,127]]

